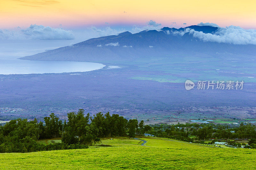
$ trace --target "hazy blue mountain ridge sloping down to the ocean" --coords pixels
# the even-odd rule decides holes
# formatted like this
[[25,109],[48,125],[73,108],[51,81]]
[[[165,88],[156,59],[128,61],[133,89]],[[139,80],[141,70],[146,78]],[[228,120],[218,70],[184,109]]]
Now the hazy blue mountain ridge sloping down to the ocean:
[[[252,55],[256,45],[234,45],[202,41],[193,37],[186,29],[214,34],[218,27],[188,26],[185,28],[164,27],[157,30],[144,30],[139,33],[128,31],[116,35],[103,36],[82,41],[71,46],[61,47],[36,55],[21,57],[25,60],[43,61],[111,61],[136,60],[150,56],[172,55]],[[180,35],[183,33],[183,35]]]

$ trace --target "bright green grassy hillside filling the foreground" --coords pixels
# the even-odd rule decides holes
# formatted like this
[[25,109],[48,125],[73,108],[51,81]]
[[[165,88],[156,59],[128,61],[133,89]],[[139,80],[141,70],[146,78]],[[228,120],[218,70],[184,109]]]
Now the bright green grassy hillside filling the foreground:
[[[124,142],[122,142],[124,140]],[[105,139],[97,147],[0,154],[1,169],[254,169],[254,149],[208,148],[177,141]]]

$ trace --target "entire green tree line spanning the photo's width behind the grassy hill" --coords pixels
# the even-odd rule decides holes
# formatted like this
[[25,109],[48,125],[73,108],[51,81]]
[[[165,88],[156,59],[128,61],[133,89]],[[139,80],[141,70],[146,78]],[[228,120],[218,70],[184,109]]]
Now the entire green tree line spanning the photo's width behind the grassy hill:
[[[44,122],[36,119],[16,119],[0,126],[0,152],[36,152],[60,149],[88,148],[102,137],[122,137],[149,133],[157,137],[166,137],[186,142],[200,140],[256,138],[256,127],[243,124],[228,129],[224,125],[186,123],[177,125],[155,124],[144,125],[137,119],[129,121],[123,116],[102,112],[90,116],[80,109],[77,113],[70,112],[68,121],[60,120],[54,113],[44,117]],[[231,133],[231,130],[235,131]],[[40,139],[61,137],[61,143],[45,145]],[[256,142],[255,142],[256,144]],[[253,145],[253,144],[252,144]],[[255,146],[256,147],[256,146]]]

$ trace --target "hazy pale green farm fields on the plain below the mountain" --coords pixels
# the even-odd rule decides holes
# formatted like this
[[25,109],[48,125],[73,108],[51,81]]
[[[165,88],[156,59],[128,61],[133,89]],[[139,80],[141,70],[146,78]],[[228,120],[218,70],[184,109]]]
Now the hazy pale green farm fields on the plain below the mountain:
[[[184,83],[187,79],[193,82],[199,80],[244,80],[244,82],[255,82],[254,78],[245,76],[254,73],[254,66],[249,60],[232,60],[233,61],[227,58],[211,56],[181,57],[180,55],[172,55],[168,57],[151,57],[151,60],[141,58],[136,61],[125,62],[125,64],[136,65],[138,70],[149,72],[148,75],[141,74],[130,77],[136,80],[151,80],[169,83]],[[236,66],[234,66],[234,62],[236,63]],[[152,70],[161,71],[162,74],[150,74],[152,73]],[[223,71],[230,72],[230,70],[234,70],[232,74],[223,73]]]

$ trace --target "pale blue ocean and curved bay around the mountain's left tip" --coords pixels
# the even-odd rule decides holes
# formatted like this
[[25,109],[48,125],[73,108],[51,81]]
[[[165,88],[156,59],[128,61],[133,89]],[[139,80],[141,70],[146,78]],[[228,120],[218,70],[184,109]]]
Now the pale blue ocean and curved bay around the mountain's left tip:
[[43,74],[84,72],[105,67],[101,63],[70,61],[29,61],[18,58],[72,44],[71,41],[0,42],[0,74]]

